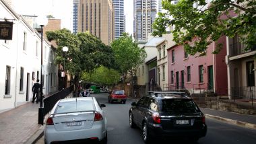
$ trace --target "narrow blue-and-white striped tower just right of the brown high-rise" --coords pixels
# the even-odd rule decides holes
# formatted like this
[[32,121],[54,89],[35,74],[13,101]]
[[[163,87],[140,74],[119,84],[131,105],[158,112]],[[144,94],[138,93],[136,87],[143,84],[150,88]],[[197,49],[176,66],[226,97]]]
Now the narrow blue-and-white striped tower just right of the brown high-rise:
[[115,9],[115,39],[125,32],[124,0],[113,0]]

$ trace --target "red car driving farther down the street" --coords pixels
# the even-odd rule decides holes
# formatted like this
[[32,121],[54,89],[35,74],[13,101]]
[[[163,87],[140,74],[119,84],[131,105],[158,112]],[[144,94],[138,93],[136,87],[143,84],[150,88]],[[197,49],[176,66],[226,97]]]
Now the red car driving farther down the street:
[[125,95],[124,90],[115,89],[111,92],[111,94],[108,96],[108,102],[123,102],[125,104],[127,99],[127,96]]

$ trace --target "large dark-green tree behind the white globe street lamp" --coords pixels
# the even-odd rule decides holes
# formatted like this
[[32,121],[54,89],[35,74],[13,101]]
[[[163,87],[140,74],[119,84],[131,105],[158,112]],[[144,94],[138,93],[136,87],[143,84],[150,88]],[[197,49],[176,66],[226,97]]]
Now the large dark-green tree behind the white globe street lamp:
[[[100,65],[110,67],[113,63],[113,50],[88,32],[72,34],[64,28],[46,32],[46,36],[49,41],[55,40],[57,43],[55,63],[63,65],[65,61],[65,71],[75,76],[73,81],[76,88],[83,71],[92,71]],[[64,46],[69,48],[65,57],[62,51]]]

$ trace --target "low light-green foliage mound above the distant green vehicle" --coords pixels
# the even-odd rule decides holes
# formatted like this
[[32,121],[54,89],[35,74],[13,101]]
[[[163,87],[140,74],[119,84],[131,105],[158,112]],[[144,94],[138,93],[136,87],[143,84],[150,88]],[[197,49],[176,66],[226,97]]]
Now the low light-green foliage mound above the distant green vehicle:
[[114,85],[120,79],[120,73],[114,69],[106,67],[98,67],[92,72],[84,72],[82,79],[89,83],[96,83],[98,85]]

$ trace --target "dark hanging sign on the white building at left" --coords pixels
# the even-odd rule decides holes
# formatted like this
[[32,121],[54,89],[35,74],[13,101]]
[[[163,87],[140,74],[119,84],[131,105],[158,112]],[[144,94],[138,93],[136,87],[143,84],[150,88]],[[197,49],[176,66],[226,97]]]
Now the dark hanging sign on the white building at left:
[[12,40],[13,22],[0,22],[0,40]]

